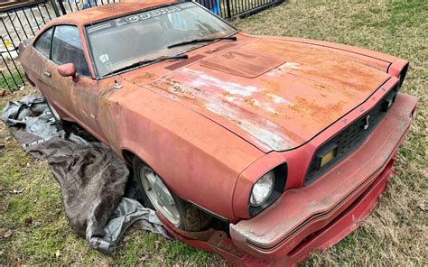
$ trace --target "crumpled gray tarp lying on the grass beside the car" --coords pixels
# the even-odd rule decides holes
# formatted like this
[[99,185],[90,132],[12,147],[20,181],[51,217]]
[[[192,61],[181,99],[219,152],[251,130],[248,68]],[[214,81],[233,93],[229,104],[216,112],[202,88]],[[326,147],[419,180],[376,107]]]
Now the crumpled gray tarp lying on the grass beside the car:
[[103,143],[74,125],[56,124],[41,95],[12,101],[3,110],[25,152],[48,161],[60,183],[70,226],[102,253],[112,253],[127,227],[168,237],[154,210],[137,200],[135,180],[126,163]]

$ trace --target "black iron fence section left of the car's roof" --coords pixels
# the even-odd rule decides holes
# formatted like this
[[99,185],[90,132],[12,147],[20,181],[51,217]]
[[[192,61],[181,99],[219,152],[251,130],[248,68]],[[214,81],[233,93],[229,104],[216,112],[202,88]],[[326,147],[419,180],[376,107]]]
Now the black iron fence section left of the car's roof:
[[32,38],[53,18],[96,5],[120,0],[5,0],[0,3],[0,88],[14,90],[25,85],[17,60],[18,46]]

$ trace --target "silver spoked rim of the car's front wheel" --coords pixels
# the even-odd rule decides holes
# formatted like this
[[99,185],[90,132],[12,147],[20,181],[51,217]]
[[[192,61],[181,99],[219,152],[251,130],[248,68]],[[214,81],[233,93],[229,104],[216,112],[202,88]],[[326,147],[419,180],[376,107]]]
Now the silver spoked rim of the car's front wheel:
[[154,208],[160,211],[173,226],[180,226],[178,207],[163,180],[148,167],[140,169],[140,180],[143,183],[145,194],[150,199],[150,202],[152,202]]

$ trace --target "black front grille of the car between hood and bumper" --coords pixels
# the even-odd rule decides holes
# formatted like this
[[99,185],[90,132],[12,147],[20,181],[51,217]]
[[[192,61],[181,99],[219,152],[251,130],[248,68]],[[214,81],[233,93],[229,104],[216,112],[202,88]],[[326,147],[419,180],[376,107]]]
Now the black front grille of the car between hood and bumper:
[[[393,87],[385,97],[382,97],[382,99],[377,102],[376,106],[373,106],[367,113],[358,117],[357,120],[342,129],[338,134],[335,134],[326,143],[321,144],[312,157],[304,180],[305,184],[316,180],[351,152],[358,149],[361,143],[368,138],[368,135],[375,130],[377,124],[379,124],[386,115],[390,107],[388,103],[390,102],[391,105],[394,103],[397,89],[397,86]],[[335,156],[321,166],[321,156],[325,152],[330,152],[331,150],[335,150]]]

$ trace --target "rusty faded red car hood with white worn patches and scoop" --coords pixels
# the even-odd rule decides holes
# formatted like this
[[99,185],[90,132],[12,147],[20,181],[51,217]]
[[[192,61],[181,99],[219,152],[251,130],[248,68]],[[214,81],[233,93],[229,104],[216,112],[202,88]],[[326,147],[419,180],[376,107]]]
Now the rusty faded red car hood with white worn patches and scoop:
[[153,80],[144,78],[142,69],[123,77],[181,102],[265,152],[308,142],[390,78],[346,53],[311,44],[255,38],[227,46],[192,54],[198,60]]

